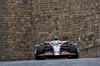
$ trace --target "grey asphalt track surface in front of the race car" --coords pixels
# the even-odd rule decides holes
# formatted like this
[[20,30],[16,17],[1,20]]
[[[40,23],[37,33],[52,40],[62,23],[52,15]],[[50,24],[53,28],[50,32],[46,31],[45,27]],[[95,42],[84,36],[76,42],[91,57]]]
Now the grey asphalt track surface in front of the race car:
[[100,66],[100,58],[5,61],[0,66]]

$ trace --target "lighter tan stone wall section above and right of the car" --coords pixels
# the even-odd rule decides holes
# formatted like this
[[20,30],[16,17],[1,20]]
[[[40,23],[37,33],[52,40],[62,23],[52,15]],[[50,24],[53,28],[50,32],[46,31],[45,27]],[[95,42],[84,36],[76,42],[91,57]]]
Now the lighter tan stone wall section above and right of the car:
[[58,35],[61,40],[78,43],[81,49],[99,44],[100,3],[98,0],[36,2],[37,8],[33,15],[37,20],[35,32],[39,34],[36,37],[42,38],[42,40],[38,38],[39,41],[52,40],[54,35]]

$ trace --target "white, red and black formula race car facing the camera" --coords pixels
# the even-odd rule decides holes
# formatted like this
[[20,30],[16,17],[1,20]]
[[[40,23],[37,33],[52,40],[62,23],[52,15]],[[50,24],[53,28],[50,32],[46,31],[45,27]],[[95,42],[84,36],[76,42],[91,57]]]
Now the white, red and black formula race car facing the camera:
[[79,50],[76,43],[60,40],[45,41],[44,44],[37,44],[35,46],[36,60],[45,60],[46,58],[53,57],[78,58]]

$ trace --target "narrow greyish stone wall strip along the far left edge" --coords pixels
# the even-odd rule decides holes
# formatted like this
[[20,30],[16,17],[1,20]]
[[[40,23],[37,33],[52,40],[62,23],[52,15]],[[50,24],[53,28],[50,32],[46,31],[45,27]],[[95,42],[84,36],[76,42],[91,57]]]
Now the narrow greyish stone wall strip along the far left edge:
[[6,1],[0,1],[0,60],[5,60],[6,56],[6,47],[7,47],[7,32],[8,26],[6,21],[7,16],[7,8],[6,8]]

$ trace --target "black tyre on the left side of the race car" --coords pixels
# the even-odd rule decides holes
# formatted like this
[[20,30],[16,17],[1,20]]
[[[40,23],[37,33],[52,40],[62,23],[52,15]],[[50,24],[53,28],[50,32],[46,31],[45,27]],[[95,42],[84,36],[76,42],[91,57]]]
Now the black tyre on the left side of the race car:
[[35,47],[35,59],[36,60],[45,60],[46,58],[38,56],[38,54],[42,54],[43,49],[41,45],[37,45]]

